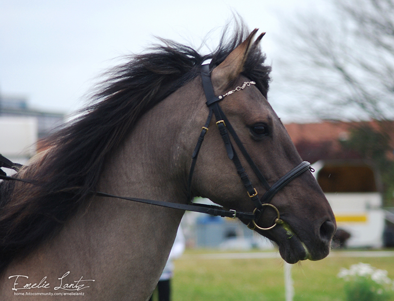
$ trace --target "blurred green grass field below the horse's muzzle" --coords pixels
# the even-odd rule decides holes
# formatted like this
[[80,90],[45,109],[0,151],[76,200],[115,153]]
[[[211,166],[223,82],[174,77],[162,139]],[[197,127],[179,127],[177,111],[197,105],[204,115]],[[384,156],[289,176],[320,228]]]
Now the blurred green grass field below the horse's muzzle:
[[[271,259],[207,259],[187,250],[175,261],[173,301],[284,301],[284,262]],[[345,301],[343,280],[336,275],[359,262],[387,270],[394,279],[394,257],[339,257],[292,266],[294,301]]]

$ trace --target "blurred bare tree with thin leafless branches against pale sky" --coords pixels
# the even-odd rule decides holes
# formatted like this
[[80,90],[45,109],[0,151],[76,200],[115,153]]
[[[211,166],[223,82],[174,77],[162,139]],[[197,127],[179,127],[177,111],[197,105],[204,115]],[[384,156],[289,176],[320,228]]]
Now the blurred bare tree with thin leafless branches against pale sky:
[[284,90],[319,118],[393,120],[394,0],[331,3],[287,24]]

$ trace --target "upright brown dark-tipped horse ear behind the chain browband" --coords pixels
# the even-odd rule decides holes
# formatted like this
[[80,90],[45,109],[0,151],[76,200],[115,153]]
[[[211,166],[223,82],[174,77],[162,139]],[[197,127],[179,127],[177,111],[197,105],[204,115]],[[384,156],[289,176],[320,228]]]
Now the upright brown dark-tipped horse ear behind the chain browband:
[[252,45],[252,39],[257,30],[253,30],[245,41],[239,44],[219,66],[212,70],[211,80],[215,90],[223,91],[227,89],[229,84],[243,71],[249,50],[256,47],[265,34],[263,32]]

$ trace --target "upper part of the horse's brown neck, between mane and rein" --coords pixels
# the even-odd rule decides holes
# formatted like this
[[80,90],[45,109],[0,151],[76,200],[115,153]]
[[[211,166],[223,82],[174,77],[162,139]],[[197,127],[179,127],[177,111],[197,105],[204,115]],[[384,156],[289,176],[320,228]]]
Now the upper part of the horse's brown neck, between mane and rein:
[[[195,87],[193,82],[186,86]],[[204,103],[199,103],[198,96],[194,99],[184,96],[185,90],[191,89],[181,88],[140,118],[106,162],[100,176],[100,190],[137,198],[188,202],[187,178],[197,142],[197,136],[193,138],[191,133],[197,132],[203,123],[196,117]]]

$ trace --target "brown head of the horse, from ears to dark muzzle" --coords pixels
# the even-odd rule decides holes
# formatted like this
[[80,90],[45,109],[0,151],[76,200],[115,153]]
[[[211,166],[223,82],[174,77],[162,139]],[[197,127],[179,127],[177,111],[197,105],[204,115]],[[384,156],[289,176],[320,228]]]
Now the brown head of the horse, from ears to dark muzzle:
[[[255,51],[263,37],[261,34],[252,43],[256,31],[219,65],[211,66],[214,94],[222,95],[217,99],[220,102],[219,110],[231,124],[240,143],[237,144],[237,138],[228,135],[231,146],[224,147],[223,130],[230,131],[230,124],[218,130],[214,123],[221,121],[218,120],[218,114],[213,114],[215,117],[209,123],[209,131],[205,134],[200,149],[192,191],[194,195],[207,197],[234,211],[255,211],[255,203],[259,203],[259,200],[263,204],[270,204],[259,208],[259,216],[254,220],[254,225],[250,220],[241,220],[261,235],[275,241],[281,256],[289,263],[323,259],[329,253],[336,228],[332,210],[309,171],[307,162],[304,164],[306,168],[302,167],[301,157],[286,128],[269,105],[264,90],[258,89],[243,73],[249,53]],[[201,101],[200,110],[202,117],[199,122],[203,124],[203,118],[207,114],[204,101]],[[231,148],[234,154],[229,153]],[[241,148],[250,155],[252,163],[245,155],[241,155],[245,151]],[[234,167],[231,161],[235,159],[238,164]],[[263,174],[263,181],[251,166],[253,164]],[[303,170],[291,179],[284,179],[286,177],[283,176],[289,171],[294,173],[296,166],[301,166]],[[245,177],[253,184],[252,192],[248,191],[248,187],[245,189],[248,185],[245,184]],[[282,183],[278,191],[271,193],[270,188],[278,182],[284,182],[282,180],[286,183]],[[265,197],[262,198],[264,193]],[[267,194],[271,196],[266,200]],[[255,203],[252,202],[252,197]]]

